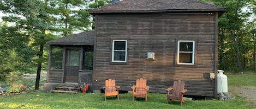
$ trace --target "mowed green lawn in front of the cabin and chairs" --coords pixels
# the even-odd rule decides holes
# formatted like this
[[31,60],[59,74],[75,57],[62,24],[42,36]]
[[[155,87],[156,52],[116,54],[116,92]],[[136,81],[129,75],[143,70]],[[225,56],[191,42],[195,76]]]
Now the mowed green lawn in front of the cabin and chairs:
[[179,101],[166,104],[166,95],[148,93],[148,101],[137,98],[132,101],[132,93],[120,94],[120,100],[108,97],[104,100],[104,93],[43,93],[29,92],[19,95],[0,97],[0,108],[251,108],[243,98],[233,100],[185,100],[181,106]]

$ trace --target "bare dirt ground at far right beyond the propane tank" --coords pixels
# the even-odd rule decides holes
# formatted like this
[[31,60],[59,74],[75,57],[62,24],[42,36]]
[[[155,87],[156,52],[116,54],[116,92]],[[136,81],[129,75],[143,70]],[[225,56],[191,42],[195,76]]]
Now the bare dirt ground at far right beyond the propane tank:
[[242,86],[242,87],[229,86],[228,88],[231,91],[231,93],[245,98],[247,101],[249,101],[252,104],[253,108],[256,109],[256,87],[253,87],[253,86]]

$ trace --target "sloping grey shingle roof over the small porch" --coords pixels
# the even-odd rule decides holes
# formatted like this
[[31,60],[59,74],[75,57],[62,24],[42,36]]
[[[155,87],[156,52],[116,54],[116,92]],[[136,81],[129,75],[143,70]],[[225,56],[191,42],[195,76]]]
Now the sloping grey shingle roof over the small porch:
[[94,31],[85,31],[79,34],[61,37],[60,39],[51,40],[47,44],[59,45],[90,45],[94,43]]

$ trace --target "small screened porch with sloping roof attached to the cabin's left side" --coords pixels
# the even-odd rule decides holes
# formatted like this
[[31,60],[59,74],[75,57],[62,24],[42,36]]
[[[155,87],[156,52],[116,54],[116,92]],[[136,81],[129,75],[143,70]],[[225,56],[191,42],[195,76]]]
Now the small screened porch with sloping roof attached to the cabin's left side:
[[49,65],[44,92],[59,85],[87,83],[92,86],[94,31],[86,31],[47,42]]

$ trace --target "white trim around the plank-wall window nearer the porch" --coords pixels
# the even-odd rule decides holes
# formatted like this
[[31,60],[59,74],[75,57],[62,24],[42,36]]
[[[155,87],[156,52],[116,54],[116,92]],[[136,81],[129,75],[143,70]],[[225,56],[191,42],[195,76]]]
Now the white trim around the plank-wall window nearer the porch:
[[[115,48],[115,41],[125,41],[126,42],[126,50],[114,50]],[[118,63],[126,63],[127,62],[127,40],[112,40],[112,60],[111,62],[118,62]],[[124,61],[115,61],[114,60],[114,52],[125,52],[125,57],[124,57]]]

